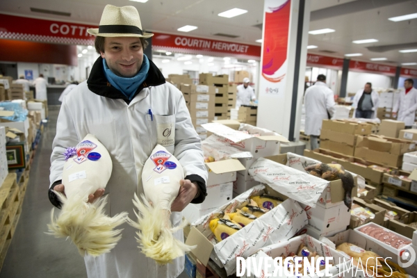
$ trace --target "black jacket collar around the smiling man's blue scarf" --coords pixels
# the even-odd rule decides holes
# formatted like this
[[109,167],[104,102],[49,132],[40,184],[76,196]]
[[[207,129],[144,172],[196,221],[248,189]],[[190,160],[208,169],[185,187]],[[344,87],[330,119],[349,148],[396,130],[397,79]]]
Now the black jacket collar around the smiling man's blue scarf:
[[[136,90],[135,95],[136,97],[138,93],[143,89],[149,86],[157,86],[162,85],[165,83],[165,78],[158,67],[149,59],[149,74],[147,79],[143,81],[142,84],[139,85],[138,90]],[[103,68],[103,58],[101,56],[97,58],[94,65],[92,65],[92,69],[90,72],[90,76],[87,80],[88,89],[94,92],[96,95],[101,97],[108,97],[109,99],[123,99],[126,101],[126,104],[130,103],[130,100],[123,95],[120,90],[114,88],[111,83],[109,83],[104,75],[104,68]],[[132,98],[133,99],[133,98]]]

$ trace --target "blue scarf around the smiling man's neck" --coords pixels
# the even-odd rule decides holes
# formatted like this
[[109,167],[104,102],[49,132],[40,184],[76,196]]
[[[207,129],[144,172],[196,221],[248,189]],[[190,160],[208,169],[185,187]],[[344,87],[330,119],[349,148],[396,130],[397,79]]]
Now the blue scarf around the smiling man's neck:
[[138,74],[133,77],[120,77],[114,74],[106,63],[106,59],[103,59],[104,74],[108,82],[113,85],[114,88],[120,90],[129,100],[132,100],[133,95],[135,95],[136,90],[138,90],[139,85],[145,81],[148,76],[149,71],[149,60],[145,54],[143,54],[142,66]]

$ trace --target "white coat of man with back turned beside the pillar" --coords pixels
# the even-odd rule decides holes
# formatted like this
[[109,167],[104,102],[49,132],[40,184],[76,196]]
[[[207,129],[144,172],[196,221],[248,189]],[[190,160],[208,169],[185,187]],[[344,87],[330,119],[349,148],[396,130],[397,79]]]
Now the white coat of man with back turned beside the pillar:
[[317,81],[307,88],[304,95],[304,107],[306,108],[306,135],[320,136],[322,120],[329,119],[334,114],[334,93],[326,83]]

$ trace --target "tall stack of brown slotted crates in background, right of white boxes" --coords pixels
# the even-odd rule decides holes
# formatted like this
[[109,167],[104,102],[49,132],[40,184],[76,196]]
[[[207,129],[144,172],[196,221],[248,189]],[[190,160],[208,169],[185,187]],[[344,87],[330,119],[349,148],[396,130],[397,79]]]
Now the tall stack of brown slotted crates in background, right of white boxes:
[[199,74],[201,85],[215,86],[215,120],[227,120],[229,110],[229,75]]

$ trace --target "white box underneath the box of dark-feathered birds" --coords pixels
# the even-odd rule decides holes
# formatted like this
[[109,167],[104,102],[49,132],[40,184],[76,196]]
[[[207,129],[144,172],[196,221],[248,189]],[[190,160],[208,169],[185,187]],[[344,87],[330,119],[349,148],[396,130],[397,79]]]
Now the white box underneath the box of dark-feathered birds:
[[344,203],[332,208],[324,208],[322,206],[312,208],[302,203],[300,203],[300,206],[306,211],[309,225],[318,234],[347,229],[347,226],[350,224],[350,211]]

